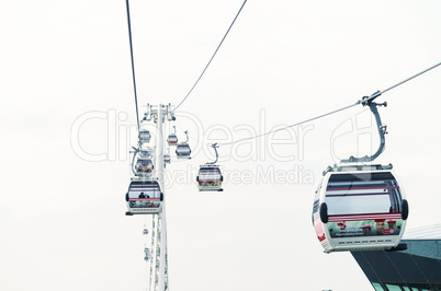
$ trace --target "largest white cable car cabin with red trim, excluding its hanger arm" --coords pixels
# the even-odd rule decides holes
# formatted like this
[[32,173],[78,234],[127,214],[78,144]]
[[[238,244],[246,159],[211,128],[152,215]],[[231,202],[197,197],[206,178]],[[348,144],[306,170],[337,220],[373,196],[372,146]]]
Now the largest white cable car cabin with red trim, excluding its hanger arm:
[[313,223],[325,253],[399,249],[408,213],[392,165],[340,166],[324,173]]

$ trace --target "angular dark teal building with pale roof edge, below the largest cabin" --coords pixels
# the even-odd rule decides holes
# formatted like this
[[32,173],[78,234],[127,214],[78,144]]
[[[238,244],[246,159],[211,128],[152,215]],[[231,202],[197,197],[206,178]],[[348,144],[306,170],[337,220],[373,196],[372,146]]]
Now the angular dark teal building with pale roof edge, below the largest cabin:
[[399,252],[352,252],[375,290],[441,290],[441,224],[406,232]]

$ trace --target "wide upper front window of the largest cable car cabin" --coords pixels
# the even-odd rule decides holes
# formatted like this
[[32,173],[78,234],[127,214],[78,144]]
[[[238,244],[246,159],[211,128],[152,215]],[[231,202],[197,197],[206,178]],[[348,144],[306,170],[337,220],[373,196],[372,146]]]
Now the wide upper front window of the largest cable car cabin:
[[399,213],[402,194],[391,173],[330,176],[325,201],[329,216]]

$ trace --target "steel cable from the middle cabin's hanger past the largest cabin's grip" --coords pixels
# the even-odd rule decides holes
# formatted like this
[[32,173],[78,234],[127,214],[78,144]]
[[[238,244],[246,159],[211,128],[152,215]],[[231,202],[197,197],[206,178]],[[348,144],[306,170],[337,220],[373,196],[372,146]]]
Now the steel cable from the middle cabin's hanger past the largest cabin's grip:
[[426,73],[426,72],[428,72],[428,71],[430,71],[430,70],[432,70],[434,68],[437,68],[438,66],[441,66],[441,62],[439,62],[439,63],[437,63],[437,65],[434,65],[434,66],[432,66],[432,67],[430,67],[430,68],[428,68],[428,69],[426,69],[426,70],[423,70],[423,71],[421,71],[421,72],[419,72],[419,73],[417,73],[417,74],[415,74],[412,77],[410,77],[410,78],[407,78],[406,80],[404,80],[404,81],[402,81],[402,82],[399,82],[399,83],[397,83],[397,84],[395,84],[393,86],[389,86],[386,90],[377,91],[374,94],[372,94],[370,97],[361,98],[361,100],[357,101],[354,104],[346,106],[346,107],[342,107],[340,109],[336,109],[336,110],[332,110],[332,112],[329,112],[329,113],[326,113],[326,114],[323,114],[323,115],[319,115],[319,116],[303,120],[301,123],[297,123],[297,124],[294,124],[294,125],[291,125],[291,126],[286,126],[286,127],[283,127],[283,128],[279,128],[276,130],[268,131],[268,132],[264,132],[264,133],[261,133],[261,135],[258,135],[258,136],[253,136],[253,137],[249,137],[249,138],[245,138],[245,139],[239,139],[239,140],[235,140],[235,141],[231,141],[231,142],[225,142],[225,143],[219,142],[217,144],[218,146],[231,146],[231,144],[235,144],[235,143],[238,143],[238,142],[241,142],[241,141],[246,141],[246,140],[250,140],[250,139],[257,139],[257,138],[264,137],[264,136],[268,136],[268,135],[273,133],[273,132],[282,131],[282,130],[285,130],[285,129],[291,128],[291,127],[299,126],[299,125],[303,125],[303,124],[306,124],[306,123],[309,123],[309,121],[313,121],[313,120],[316,120],[316,119],[319,119],[319,118],[323,118],[323,117],[326,117],[326,116],[329,116],[329,115],[332,115],[332,114],[336,114],[336,113],[339,113],[339,112],[342,112],[342,110],[346,110],[346,109],[349,109],[349,108],[351,108],[353,106],[357,106],[359,104],[366,105],[370,101],[378,97],[383,93],[386,93],[387,91],[389,91],[389,90],[392,90],[394,88],[397,88],[397,86],[399,86],[399,85],[402,85],[402,84],[404,84],[404,83],[406,83],[406,82],[408,82],[408,81],[410,81],[410,80],[412,80],[412,79],[415,79],[415,78],[417,78],[417,77],[419,77],[419,75],[421,75],[421,74],[423,74],[423,73]]

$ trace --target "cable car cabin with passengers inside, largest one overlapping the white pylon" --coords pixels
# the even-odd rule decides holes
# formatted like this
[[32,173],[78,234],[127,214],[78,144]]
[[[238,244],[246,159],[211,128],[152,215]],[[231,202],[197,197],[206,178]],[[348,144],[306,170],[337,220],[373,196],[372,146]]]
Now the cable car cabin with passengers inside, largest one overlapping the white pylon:
[[132,181],[125,200],[126,216],[158,214],[162,211],[163,194],[157,181]]

